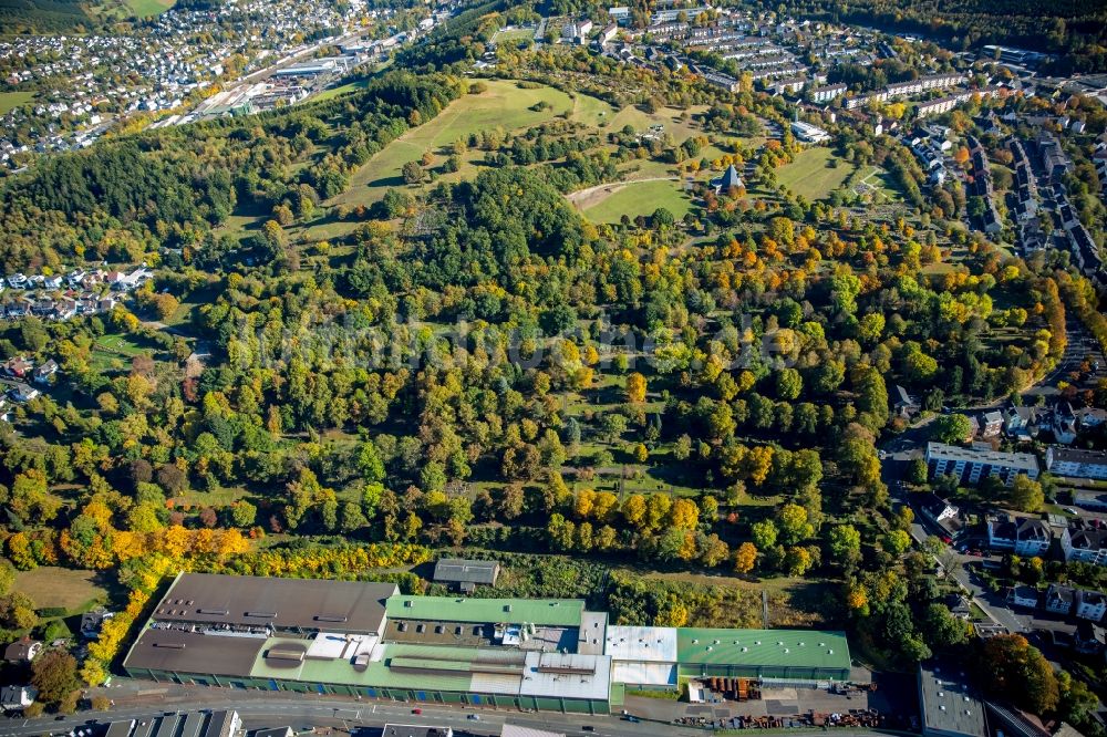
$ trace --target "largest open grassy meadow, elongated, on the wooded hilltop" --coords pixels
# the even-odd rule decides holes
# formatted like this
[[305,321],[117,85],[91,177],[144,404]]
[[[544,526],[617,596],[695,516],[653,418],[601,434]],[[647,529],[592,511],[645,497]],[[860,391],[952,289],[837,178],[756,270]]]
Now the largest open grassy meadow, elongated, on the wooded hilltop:
[[[554,87],[526,90],[515,82],[500,80],[489,80],[487,84],[485,92],[455,100],[433,121],[385,146],[350,177],[350,188],[339,195],[334,204],[356,206],[377,201],[389,187],[403,186],[400,170],[404,164],[421,158],[425,152],[441,154],[444,146],[470,134],[497,126],[504,131],[527,128],[573,111],[569,95]],[[540,102],[548,103],[549,107],[531,110]],[[577,104],[596,110],[592,103],[581,103],[579,98]]]

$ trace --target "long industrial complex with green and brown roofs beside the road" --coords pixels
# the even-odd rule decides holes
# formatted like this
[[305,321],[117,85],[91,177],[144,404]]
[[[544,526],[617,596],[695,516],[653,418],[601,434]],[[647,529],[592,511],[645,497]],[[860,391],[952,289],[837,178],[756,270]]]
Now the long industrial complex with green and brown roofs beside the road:
[[159,682],[608,714],[628,685],[814,686],[848,681],[849,664],[840,632],[613,626],[580,600],[180,573],[123,666]]

